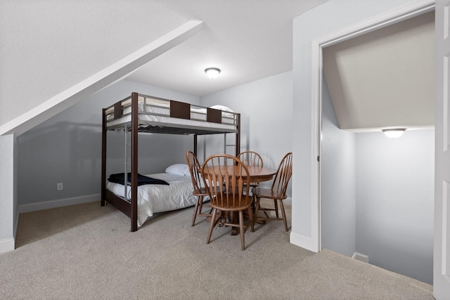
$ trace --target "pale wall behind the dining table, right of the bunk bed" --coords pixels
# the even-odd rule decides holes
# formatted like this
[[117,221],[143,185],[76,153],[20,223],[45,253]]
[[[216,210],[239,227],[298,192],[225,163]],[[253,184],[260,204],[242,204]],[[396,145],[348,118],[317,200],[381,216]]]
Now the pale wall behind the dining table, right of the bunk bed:
[[[240,112],[241,152],[256,151],[262,155],[264,167],[276,169],[283,156],[292,151],[292,99],[292,72],[284,72],[204,96],[200,103],[226,105]],[[217,144],[223,145],[223,138]],[[270,182],[262,183],[266,185]]]

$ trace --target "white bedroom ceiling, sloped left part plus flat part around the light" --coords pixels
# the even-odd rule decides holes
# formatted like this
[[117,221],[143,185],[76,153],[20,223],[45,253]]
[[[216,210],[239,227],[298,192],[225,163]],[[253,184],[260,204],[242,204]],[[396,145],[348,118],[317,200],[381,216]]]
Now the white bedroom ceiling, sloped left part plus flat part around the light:
[[[35,119],[55,106],[55,96],[72,94],[74,86],[108,73],[191,20],[203,21],[203,30],[124,76],[204,96],[292,70],[293,18],[323,2],[0,1],[0,96],[19,99],[0,101],[0,134],[17,132],[24,119],[33,119],[35,126],[58,113]],[[219,67],[220,77],[207,78],[206,67]],[[58,103],[74,105],[80,99],[58,98]]]

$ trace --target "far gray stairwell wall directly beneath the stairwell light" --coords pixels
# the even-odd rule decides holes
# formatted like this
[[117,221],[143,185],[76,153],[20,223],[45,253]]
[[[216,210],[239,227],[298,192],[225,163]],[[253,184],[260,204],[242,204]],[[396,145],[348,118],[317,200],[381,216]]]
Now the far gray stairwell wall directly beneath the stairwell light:
[[435,131],[356,138],[356,252],[432,284]]

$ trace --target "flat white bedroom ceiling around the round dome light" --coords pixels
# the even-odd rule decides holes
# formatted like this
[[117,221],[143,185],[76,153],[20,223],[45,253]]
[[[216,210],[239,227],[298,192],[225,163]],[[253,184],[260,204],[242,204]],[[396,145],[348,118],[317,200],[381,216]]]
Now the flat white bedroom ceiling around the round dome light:
[[[126,79],[205,96],[292,70],[293,18],[325,1],[160,0],[168,11],[203,20],[205,26]],[[167,25],[172,24],[161,22]],[[207,67],[218,67],[221,74],[210,79],[204,72]]]

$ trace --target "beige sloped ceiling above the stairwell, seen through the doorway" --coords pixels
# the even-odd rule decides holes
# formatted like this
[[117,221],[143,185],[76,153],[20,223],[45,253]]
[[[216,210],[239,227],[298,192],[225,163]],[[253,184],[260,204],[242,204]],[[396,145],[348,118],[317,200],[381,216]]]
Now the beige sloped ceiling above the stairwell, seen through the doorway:
[[430,129],[435,124],[434,11],[323,49],[340,129]]

